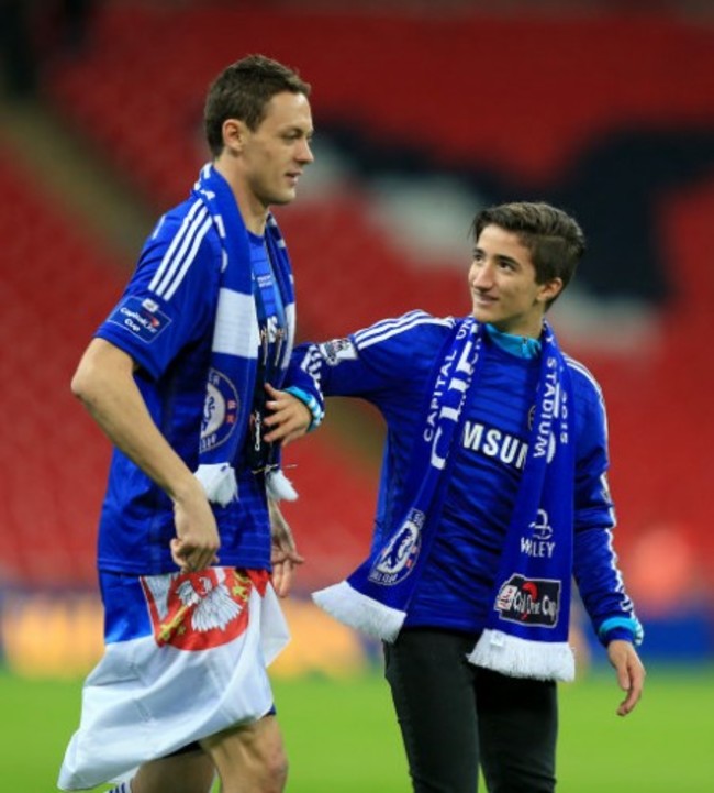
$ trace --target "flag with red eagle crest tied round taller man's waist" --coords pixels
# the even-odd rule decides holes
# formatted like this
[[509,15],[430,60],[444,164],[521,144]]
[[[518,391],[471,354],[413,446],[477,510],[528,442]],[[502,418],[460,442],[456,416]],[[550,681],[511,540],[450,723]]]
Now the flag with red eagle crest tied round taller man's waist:
[[85,682],[62,790],[121,781],[271,712],[266,668],[289,635],[266,571],[102,573],[101,588],[107,646]]

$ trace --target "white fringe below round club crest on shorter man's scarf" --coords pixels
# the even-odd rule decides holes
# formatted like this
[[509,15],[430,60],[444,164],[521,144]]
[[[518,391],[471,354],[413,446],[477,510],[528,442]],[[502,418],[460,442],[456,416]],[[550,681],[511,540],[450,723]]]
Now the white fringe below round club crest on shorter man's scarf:
[[346,582],[312,593],[320,608],[375,639],[394,641],[406,614],[364,595]]

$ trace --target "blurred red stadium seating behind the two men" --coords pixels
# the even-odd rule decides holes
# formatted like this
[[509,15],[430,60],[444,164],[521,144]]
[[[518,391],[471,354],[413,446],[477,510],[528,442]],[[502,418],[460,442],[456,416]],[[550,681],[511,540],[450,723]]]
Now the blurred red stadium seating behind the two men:
[[[175,13],[170,24],[169,13]],[[158,4],[108,4],[97,14],[94,46],[88,57],[47,75],[48,99],[133,180],[145,198],[164,209],[185,197],[205,158],[197,98],[203,96],[209,79],[225,63],[247,52],[266,52],[294,63],[314,81],[317,128],[322,118],[352,123],[357,118],[386,139],[410,136],[434,153],[434,162],[465,161],[480,145],[493,162],[505,169],[520,168],[526,176],[567,167],[573,141],[606,126],[625,107],[635,107],[639,119],[666,124],[677,115],[702,118],[707,112],[702,107],[702,97],[706,101],[712,95],[707,87],[712,88],[714,70],[705,68],[711,64],[705,59],[706,40],[693,25],[673,29],[677,34],[673,36],[671,27],[654,21],[646,25],[646,35],[638,40],[640,46],[634,57],[631,21],[625,18],[553,24],[540,20],[537,24],[543,35],[557,29],[557,41],[567,42],[570,57],[580,64],[599,63],[598,42],[606,40],[622,43],[612,49],[616,56],[612,69],[625,68],[625,60],[636,65],[632,80],[615,86],[609,74],[591,69],[590,82],[583,86],[582,68],[560,74],[555,59],[539,57],[545,52],[543,36],[532,35],[531,29],[525,27],[533,20],[445,19],[439,20],[435,31],[434,20],[405,21],[387,15],[377,26],[366,15],[347,19],[341,14],[290,11],[286,12],[290,23],[276,25],[272,13],[236,11],[231,16],[225,4],[219,9],[201,4],[183,13]],[[446,66],[444,71],[434,74],[436,64],[457,63],[459,58],[471,63],[475,41],[491,46],[489,42],[497,42],[503,33],[517,38],[520,47],[533,49],[531,63],[534,70],[539,69],[531,76],[534,84],[550,80],[560,86],[558,91],[545,97],[538,93],[539,99],[533,100],[551,104],[534,109],[526,102],[520,108],[532,123],[522,125],[524,140],[517,146],[510,145],[504,136],[499,113],[486,113],[479,120],[481,137],[476,143],[472,115],[459,112],[465,92],[473,89],[472,75],[468,70],[457,74],[457,69],[448,70]],[[362,40],[375,44],[370,48],[373,57],[359,58],[357,42]],[[382,40],[389,46],[377,46]],[[399,56],[392,47],[397,41]],[[511,75],[498,57],[499,45],[493,46],[497,47],[493,62],[500,66],[489,74],[488,80],[498,81],[506,96],[522,75]],[[669,57],[661,57],[663,51]],[[681,58],[674,51],[682,53]],[[429,53],[428,58],[424,57],[425,52]],[[622,63],[618,58],[623,58]],[[672,69],[680,60],[690,63],[701,79],[709,80],[706,86],[692,87],[673,76]],[[423,81],[428,102],[417,102],[401,91],[405,74]],[[570,97],[568,112],[564,93]],[[520,93],[523,101],[528,96],[525,91]],[[438,112],[425,110],[437,99]],[[437,123],[432,115],[448,118],[449,124]],[[85,247],[67,227],[37,203],[9,164],[3,164],[1,170],[0,189],[11,200],[5,202],[9,210],[3,207],[0,216],[0,230],[12,229],[18,250],[9,254],[5,251],[2,266],[0,329],[5,331],[5,339],[13,340],[13,349],[9,357],[1,359],[5,376],[0,406],[12,421],[3,433],[0,472],[12,480],[18,460],[41,445],[43,455],[37,466],[41,475],[52,476],[53,492],[40,489],[35,498],[32,482],[37,470],[20,477],[14,473],[13,489],[18,493],[11,496],[9,506],[0,506],[4,509],[0,518],[20,521],[24,505],[42,499],[43,517],[35,522],[52,526],[44,514],[59,510],[65,517],[57,528],[72,532],[74,540],[67,546],[72,548],[69,558],[65,558],[62,540],[57,540],[60,547],[57,553],[63,554],[63,564],[88,575],[93,540],[91,521],[86,516],[96,513],[101,497],[101,477],[97,472],[103,471],[107,449],[68,396],[67,379],[92,323],[101,318],[118,286],[108,272],[98,275],[105,264],[104,256]],[[468,310],[465,305],[454,304],[455,295],[462,294],[461,276],[437,262],[431,271],[414,267],[388,234],[375,228],[368,205],[368,196],[353,192],[322,203],[299,202],[280,210],[281,227],[298,273],[303,338],[338,335],[416,306],[435,313]],[[706,499],[711,478],[706,460],[714,445],[714,422],[707,400],[714,386],[714,370],[706,339],[714,276],[702,255],[702,247],[705,249],[702,240],[709,239],[713,213],[714,194],[704,189],[683,196],[681,203],[672,207],[662,220],[680,295],[660,318],[661,339],[651,340],[649,352],[638,354],[636,361],[606,351],[589,350],[584,356],[601,381],[609,404],[611,484],[618,504],[622,525],[618,547],[623,557],[635,539],[663,522],[692,537],[702,570],[710,579],[714,572],[711,561],[714,507]],[[26,227],[27,217],[35,218],[32,231]],[[2,239],[8,239],[8,233]],[[76,296],[88,294],[89,283],[91,318],[76,308],[80,305]],[[57,294],[63,295],[62,299],[57,299]],[[56,352],[48,365],[43,356],[51,341]],[[578,354],[576,349],[572,352]],[[13,377],[20,385],[16,382],[9,385]],[[46,416],[49,395],[51,420]],[[47,443],[51,432],[56,432],[56,439]],[[362,527],[369,521],[375,484],[361,469],[348,471],[349,451],[346,447],[327,447],[328,438],[321,434],[295,447],[294,454],[300,458],[319,451],[301,463],[295,480],[303,498],[289,507],[300,524],[295,527],[298,533],[306,535],[314,558],[324,560],[325,565],[341,550],[346,563],[347,558],[354,558],[357,547],[364,547]],[[74,472],[80,448],[82,480],[78,484]],[[55,453],[58,456],[49,463],[47,455]],[[335,465],[331,462],[334,460],[341,461],[339,476],[334,474]],[[308,478],[301,483],[303,476]],[[365,477],[368,482],[362,482]],[[345,516],[353,511],[355,520],[347,524]],[[67,515],[72,516],[70,528],[65,522]],[[77,521],[82,517],[85,525],[79,527]],[[22,566],[23,574],[33,574],[32,565],[27,566],[33,554],[24,550],[19,524],[12,524],[10,535],[16,564]],[[357,539],[349,544],[353,536]],[[51,541],[55,542],[54,537],[46,539]],[[82,549],[86,558],[79,559]],[[12,562],[5,560],[4,564]],[[44,561],[38,564],[43,575],[49,574],[51,565]],[[324,572],[322,561],[316,566]],[[54,574],[71,577],[65,570],[55,570]],[[322,572],[316,577],[321,575]]]

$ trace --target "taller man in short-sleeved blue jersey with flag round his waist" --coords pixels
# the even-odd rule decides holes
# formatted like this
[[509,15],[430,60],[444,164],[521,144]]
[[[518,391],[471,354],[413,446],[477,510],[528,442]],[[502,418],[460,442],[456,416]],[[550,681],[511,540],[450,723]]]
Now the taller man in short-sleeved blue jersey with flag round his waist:
[[115,450],[99,526],[105,653],[64,790],[205,793],[216,771],[224,793],[283,790],[266,665],[287,640],[276,590],[301,557],[275,508],[294,496],[279,441],[320,416],[277,390],[294,296],[269,207],[295,198],[313,161],[309,95],[260,55],[217,76],[212,161],[159,220],[72,378]]

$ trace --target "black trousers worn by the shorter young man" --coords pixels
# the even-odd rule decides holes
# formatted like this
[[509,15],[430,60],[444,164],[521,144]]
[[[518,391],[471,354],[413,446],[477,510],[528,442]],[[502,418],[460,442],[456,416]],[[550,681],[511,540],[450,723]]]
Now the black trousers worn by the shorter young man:
[[467,661],[475,637],[412,628],[384,645],[415,793],[553,793],[558,703],[553,682]]

